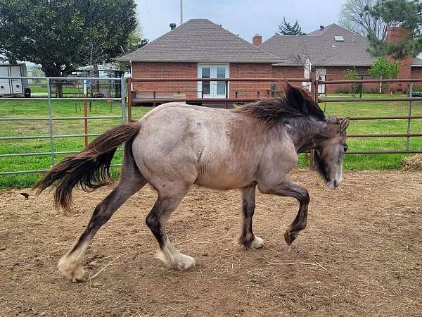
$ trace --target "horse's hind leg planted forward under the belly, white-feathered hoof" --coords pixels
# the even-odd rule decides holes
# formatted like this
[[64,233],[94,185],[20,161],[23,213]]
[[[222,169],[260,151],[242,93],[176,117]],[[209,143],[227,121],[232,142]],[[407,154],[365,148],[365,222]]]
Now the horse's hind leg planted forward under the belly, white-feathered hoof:
[[160,251],[158,251],[157,255],[158,259],[177,270],[186,270],[195,266],[195,259],[191,256],[181,254],[174,247],[169,237],[167,237],[165,225],[170,214],[174,209],[177,209],[177,206],[179,206],[181,199],[183,199],[187,191],[188,189],[181,185],[179,189],[172,187],[172,189],[166,192],[158,192],[158,199],[155,201],[151,212],[146,216],[146,224],[151,229],[151,232],[153,232],[160,246]]

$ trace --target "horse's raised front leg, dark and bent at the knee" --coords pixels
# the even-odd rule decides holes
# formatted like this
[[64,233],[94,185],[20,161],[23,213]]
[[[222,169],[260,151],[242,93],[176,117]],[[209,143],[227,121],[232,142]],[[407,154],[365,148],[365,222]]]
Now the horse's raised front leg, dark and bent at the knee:
[[309,193],[307,189],[293,184],[290,180],[283,180],[279,184],[274,186],[260,185],[260,191],[265,194],[276,194],[279,196],[294,197],[299,201],[299,212],[293,223],[286,230],[284,234],[284,240],[288,245],[298,237],[301,230],[306,228],[307,221],[307,209],[309,205]]

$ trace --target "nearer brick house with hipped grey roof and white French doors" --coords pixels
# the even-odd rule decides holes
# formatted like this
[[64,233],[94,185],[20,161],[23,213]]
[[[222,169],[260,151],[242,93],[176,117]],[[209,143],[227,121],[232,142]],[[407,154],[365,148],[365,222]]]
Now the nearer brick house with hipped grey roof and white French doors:
[[[129,61],[132,77],[256,78],[271,76],[274,63],[281,60],[250,42],[212,23],[188,20],[122,58]],[[257,90],[269,89],[268,82],[230,82],[229,96],[249,97]],[[224,82],[148,82],[134,83],[136,97],[170,97],[173,92],[187,98],[226,97]]]

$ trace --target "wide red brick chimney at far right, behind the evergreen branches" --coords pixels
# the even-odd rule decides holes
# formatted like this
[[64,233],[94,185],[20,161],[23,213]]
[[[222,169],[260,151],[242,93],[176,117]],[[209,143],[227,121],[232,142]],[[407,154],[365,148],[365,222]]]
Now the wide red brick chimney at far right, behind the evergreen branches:
[[[398,27],[388,27],[387,29],[387,42],[388,43],[397,43],[401,42],[404,39],[407,39],[411,37],[411,30],[408,30],[404,27],[398,26]],[[388,61],[397,61],[399,64],[399,75],[398,78],[411,78],[411,62],[412,58],[411,56],[406,56],[402,59],[393,58],[392,56],[388,56]],[[397,92],[407,91],[407,86],[404,84],[397,84],[395,85]]]

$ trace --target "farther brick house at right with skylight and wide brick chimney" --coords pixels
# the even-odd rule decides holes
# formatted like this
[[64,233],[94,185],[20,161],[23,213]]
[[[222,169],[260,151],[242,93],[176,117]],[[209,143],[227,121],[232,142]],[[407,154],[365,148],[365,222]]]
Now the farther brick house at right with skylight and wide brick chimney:
[[[401,27],[390,27],[387,40],[397,42],[405,35]],[[355,69],[359,74],[368,74],[369,68],[376,61],[369,54],[369,41],[336,24],[324,27],[308,35],[274,35],[259,46],[264,51],[283,59],[274,64],[274,74],[303,75],[298,67],[310,68],[315,77],[323,80],[345,80],[347,70]],[[422,60],[407,58],[399,61],[399,77],[409,78],[422,76]],[[277,70],[279,68],[279,70]],[[405,86],[405,84],[404,84]],[[366,84],[367,90],[377,90],[378,85]],[[399,87],[397,87],[399,89]],[[320,85],[319,92],[338,92],[350,89],[350,85]]]

